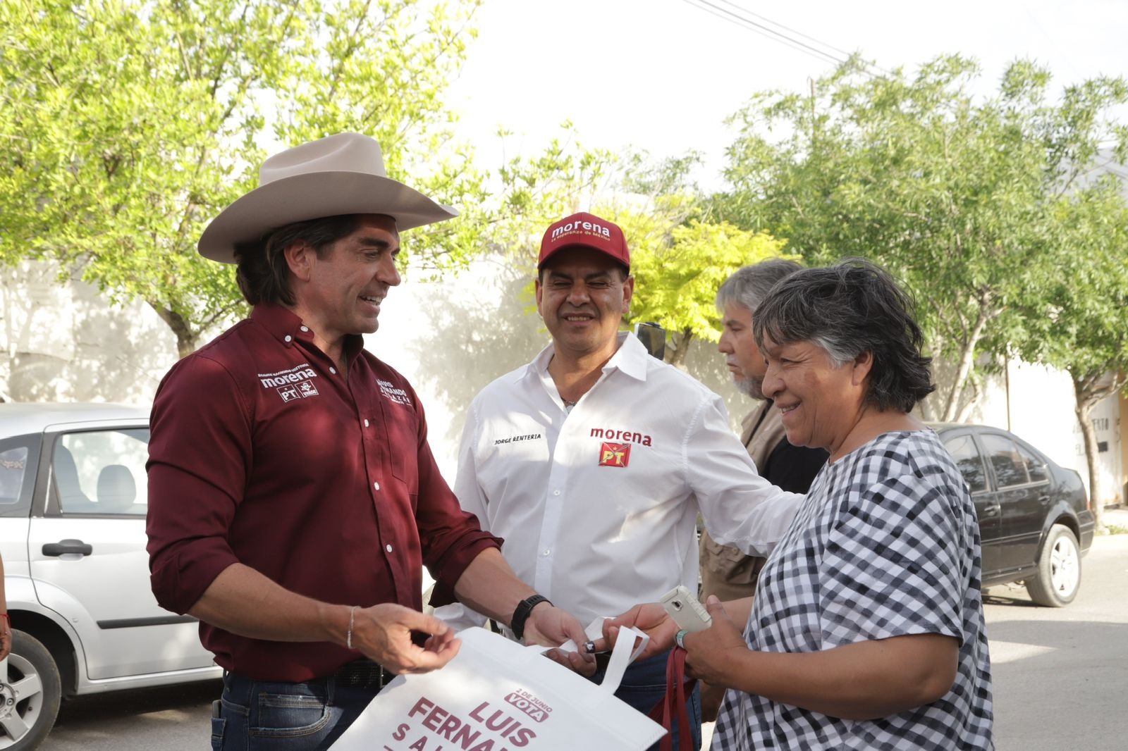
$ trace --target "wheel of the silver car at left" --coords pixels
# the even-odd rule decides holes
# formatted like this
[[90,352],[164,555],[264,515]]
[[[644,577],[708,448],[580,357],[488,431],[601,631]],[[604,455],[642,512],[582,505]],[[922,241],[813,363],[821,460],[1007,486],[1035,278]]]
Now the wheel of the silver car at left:
[[54,659],[37,638],[14,628],[8,673],[0,678],[0,749],[37,749],[55,724],[62,698]]

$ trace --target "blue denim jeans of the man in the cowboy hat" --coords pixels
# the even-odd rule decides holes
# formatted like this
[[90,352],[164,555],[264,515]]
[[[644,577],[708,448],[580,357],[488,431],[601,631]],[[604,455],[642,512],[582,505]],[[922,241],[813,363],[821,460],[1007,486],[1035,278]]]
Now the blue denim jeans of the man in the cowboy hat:
[[224,673],[212,714],[212,751],[328,749],[380,690],[338,677],[303,683],[255,681]]

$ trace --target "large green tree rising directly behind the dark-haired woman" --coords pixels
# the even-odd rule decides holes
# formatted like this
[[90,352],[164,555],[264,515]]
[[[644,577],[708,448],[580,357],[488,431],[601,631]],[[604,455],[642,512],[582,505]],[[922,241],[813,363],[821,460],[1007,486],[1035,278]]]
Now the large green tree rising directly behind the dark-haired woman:
[[[997,95],[970,94],[959,56],[874,78],[854,58],[810,95],[764,92],[735,116],[732,189],[720,217],[786,238],[810,263],[864,256],[915,293],[931,353],[953,363],[926,416],[962,419],[997,366],[1017,301],[1052,273],[1060,219],[1048,206],[1118,132],[1121,79],[1047,103],[1049,72],[1016,62]],[[961,409],[962,405],[962,409]]]

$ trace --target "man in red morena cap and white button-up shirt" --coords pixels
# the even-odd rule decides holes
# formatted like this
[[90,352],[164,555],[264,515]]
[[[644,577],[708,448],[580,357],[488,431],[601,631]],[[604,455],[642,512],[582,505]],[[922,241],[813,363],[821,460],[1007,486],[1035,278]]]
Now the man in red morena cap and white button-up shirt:
[[[756,472],[720,397],[619,332],[629,267],[611,222],[548,228],[536,292],[553,343],[474,399],[455,484],[518,576],[581,622],[696,592],[698,511],[717,541],[766,555],[801,497]],[[437,615],[469,622],[453,608]],[[617,696],[649,712],[664,672],[664,655],[632,665]],[[697,748],[696,692],[690,709]]]

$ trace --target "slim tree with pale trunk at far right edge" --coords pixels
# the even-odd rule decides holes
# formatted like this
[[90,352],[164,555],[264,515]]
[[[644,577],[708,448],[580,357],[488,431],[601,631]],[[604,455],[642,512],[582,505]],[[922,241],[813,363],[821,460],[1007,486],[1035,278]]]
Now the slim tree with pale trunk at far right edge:
[[1099,531],[1104,529],[1104,492],[1092,412],[1128,386],[1128,180],[1122,179],[1107,173],[1056,202],[1061,233],[1055,273],[1022,300],[1025,326],[1011,339],[1023,360],[1060,368],[1073,379]]

